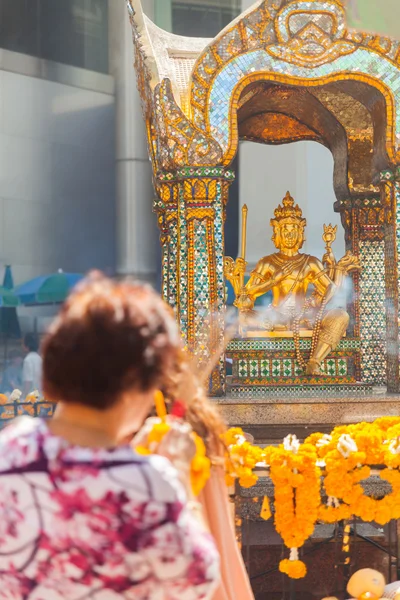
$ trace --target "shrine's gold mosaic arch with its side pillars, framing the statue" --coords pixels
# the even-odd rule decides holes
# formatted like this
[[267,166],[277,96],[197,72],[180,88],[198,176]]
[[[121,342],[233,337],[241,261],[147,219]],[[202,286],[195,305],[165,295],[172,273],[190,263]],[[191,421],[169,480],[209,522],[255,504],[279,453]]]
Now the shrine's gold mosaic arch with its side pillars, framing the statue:
[[[374,156],[368,165],[369,186],[350,185],[350,171],[345,173],[349,185],[346,182],[337,193],[336,209],[342,214],[347,244],[360,254],[364,268],[355,308],[365,343],[363,376],[381,383],[387,366],[389,389],[398,391],[400,43],[349,30],[342,1],[260,0],[199,50],[190,80],[179,87],[184,73],[178,81],[174,69],[181,63],[187,69],[191,48],[200,42],[186,40],[181,54],[167,56],[165,44],[149,43],[152,35],[161,34],[144,19],[140,1],[129,0],[129,6],[163,244],[163,293],[179,314],[188,347],[200,348],[200,358],[207,358],[220,335],[218,317],[206,322],[204,315],[214,310],[220,314],[225,302],[223,223],[234,178],[229,165],[240,137],[238,111],[245,106],[251,110],[252,94],[261,82],[266,82],[267,91],[279,86],[284,91],[305,90],[342,128],[345,142],[341,138],[337,151],[343,154],[342,165],[357,144],[365,144],[365,152]],[[168,34],[162,36],[167,39]],[[175,43],[183,44],[171,40]],[[163,57],[157,57],[154,48],[160,55],[164,52]],[[341,121],[341,95],[364,109],[368,131],[360,132],[355,121]],[[309,135],[307,123],[298,121]],[[368,321],[370,282],[374,296],[382,286],[385,290],[373,311],[384,314],[385,303],[390,308],[383,325],[387,351],[382,351],[378,367],[373,364],[374,325]],[[212,391],[221,394],[223,388],[220,365]]]

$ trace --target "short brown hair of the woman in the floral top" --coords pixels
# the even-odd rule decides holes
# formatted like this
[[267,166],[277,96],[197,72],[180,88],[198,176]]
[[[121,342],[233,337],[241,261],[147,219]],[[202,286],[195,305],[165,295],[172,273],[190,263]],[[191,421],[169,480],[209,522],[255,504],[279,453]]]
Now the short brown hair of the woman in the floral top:
[[45,337],[44,392],[105,410],[129,389],[162,387],[180,348],[175,319],[150,287],[92,273]]

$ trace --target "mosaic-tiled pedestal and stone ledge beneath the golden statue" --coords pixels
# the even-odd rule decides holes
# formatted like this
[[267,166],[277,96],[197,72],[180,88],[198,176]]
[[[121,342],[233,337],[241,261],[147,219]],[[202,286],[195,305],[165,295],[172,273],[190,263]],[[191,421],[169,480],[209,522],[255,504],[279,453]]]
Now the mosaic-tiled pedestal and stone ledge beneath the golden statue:
[[[300,340],[305,356],[310,344]],[[227,395],[216,402],[230,425],[242,426],[260,443],[397,416],[400,395],[358,381],[359,348],[359,340],[343,339],[325,360],[324,373],[309,377],[297,364],[293,339],[234,339],[227,349]]]

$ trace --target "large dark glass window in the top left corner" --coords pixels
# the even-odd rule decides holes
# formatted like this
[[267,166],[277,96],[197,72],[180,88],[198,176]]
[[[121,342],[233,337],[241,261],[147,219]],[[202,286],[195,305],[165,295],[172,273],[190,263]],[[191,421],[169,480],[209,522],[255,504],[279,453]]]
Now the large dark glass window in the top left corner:
[[0,0],[0,47],[108,72],[108,0]]

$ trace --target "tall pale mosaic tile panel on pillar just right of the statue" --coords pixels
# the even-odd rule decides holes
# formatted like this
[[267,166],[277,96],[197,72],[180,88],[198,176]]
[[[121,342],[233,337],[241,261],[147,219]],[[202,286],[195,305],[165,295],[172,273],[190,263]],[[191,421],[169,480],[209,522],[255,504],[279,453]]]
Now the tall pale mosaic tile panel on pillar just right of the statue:
[[367,383],[386,382],[385,244],[360,241],[361,374]]

